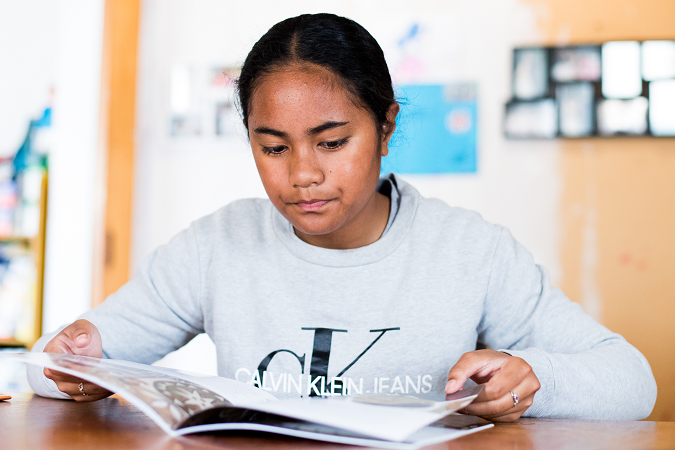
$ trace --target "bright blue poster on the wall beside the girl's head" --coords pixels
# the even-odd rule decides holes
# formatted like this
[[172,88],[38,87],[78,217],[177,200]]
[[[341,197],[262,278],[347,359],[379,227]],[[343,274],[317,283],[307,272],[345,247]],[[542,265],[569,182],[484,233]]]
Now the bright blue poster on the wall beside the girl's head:
[[397,89],[401,111],[382,172],[476,172],[474,84],[405,85]]

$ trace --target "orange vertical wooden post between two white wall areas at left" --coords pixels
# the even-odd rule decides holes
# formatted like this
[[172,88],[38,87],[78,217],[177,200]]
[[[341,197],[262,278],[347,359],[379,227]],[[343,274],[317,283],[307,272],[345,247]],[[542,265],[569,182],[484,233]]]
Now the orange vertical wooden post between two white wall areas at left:
[[97,174],[105,208],[96,217],[94,307],[129,280],[140,6],[141,0],[105,2]]

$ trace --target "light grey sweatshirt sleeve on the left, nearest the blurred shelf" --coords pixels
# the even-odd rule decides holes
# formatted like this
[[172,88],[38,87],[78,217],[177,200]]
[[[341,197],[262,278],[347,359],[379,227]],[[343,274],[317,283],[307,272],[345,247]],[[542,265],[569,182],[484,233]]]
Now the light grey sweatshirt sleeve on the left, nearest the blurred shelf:
[[[204,331],[200,290],[193,226],[155,250],[131,281],[78,319],[98,328],[104,358],[151,364]],[[43,351],[58,331],[42,336],[32,351]],[[35,393],[70,399],[44,376],[43,369],[27,367]]]

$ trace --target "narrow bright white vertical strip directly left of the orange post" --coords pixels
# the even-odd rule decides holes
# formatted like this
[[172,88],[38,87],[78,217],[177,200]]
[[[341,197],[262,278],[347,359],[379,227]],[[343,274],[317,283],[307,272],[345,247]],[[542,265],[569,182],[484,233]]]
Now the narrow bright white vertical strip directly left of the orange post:
[[91,308],[103,11],[104,0],[62,0],[57,16],[45,332]]

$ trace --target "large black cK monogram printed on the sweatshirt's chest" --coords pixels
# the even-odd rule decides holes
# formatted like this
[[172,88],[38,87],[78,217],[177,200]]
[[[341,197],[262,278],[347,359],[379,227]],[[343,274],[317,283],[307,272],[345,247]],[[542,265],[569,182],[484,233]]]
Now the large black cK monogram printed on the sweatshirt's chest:
[[[354,358],[352,362],[347,364],[340,372],[334,377],[333,381],[328,382],[328,364],[330,362],[330,352],[333,342],[333,333],[347,333],[347,330],[337,330],[333,328],[302,328],[305,331],[314,331],[314,344],[312,347],[312,360],[309,365],[309,378],[307,392],[310,397],[315,397],[317,395],[322,395],[325,393],[335,393],[344,392],[345,386],[342,380],[338,378],[342,377],[354,364],[358,362],[359,359],[363,357],[373,346],[382,339],[382,337],[389,331],[398,331],[400,327],[396,328],[381,328],[377,330],[370,330],[371,333],[378,333],[375,336],[375,339],[361,352],[359,355]],[[306,354],[302,356],[298,355],[292,350],[288,349],[279,349],[271,352],[260,361],[258,364],[258,380],[253,382],[253,385],[258,387],[263,387],[265,380],[265,375],[267,368],[274,359],[274,357],[279,353],[289,353],[293,355],[300,363],[300,372],[304,375],[305,373],[305,359]],[[300,377],[302,380],[302,377]],[[284,381],[285,382],[285,381]],[[300,381],[301,382],[301,381]],[[300,388],[298,389],[301,390]]]

